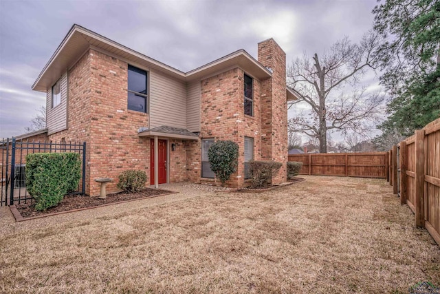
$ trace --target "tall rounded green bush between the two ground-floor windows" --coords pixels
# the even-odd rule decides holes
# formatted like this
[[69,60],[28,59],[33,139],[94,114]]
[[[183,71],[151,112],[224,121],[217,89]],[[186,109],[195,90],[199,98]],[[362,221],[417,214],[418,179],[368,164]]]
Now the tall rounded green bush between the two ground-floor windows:
[[212,143],[208,149],[211,170],[224,185],[236,171],[239,158],[239,145],[230,140]]

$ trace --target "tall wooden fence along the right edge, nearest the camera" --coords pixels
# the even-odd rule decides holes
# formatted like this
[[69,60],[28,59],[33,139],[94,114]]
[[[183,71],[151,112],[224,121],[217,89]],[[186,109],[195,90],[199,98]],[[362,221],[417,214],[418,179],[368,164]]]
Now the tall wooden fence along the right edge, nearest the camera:
[[388,156],[393,192],[440,245],[440,118],[393,146]]

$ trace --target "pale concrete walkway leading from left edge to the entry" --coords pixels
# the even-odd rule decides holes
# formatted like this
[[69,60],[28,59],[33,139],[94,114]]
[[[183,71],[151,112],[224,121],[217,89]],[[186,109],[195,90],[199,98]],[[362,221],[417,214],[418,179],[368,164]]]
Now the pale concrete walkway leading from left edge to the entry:
[[0,234],[14,233],[22,229],[38,229],[41,227],[48,227],[52,224],[60,224],[65,222],[94,220],[96,218],[121,215],[125,213],[132,213],[146,207],[152,207],[168,202],[182,201],[189,198],[196,198],[206,196],[215,191],[222,189],[217,187],[210,187],[206,185],[197,185],[188,182],[180,182],[173,184],[159,185],[159,189],[177,192],[175,194],[168,194],[158,196],[155,198],[147,198],[143,200],[136,200],[131,202],[108,205],[105,207],[98,207],[95,209],[87,209],[83,211],[75,211],[72,213],[63,213],[56,216],[48,216],[46,218],[37,218],[34,220],[27,220],[24,222],[15,222],[14,216],[9,207],[0,207]]

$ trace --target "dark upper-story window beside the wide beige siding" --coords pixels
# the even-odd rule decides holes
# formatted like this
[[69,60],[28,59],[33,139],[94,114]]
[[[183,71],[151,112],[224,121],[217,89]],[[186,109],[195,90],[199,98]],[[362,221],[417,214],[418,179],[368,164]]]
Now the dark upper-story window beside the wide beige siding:
[[129,65],[129,99],[127,109],[146,112],[148,98],[146,81],[146,71]]

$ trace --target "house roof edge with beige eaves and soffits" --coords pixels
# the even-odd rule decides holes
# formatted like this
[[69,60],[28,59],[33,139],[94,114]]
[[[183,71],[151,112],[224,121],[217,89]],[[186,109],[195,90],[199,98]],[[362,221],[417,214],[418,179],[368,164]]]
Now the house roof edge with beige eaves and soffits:
[[248,52],[245,52],[245,50],[232,52],[220,59],[197,67],[195,70],[190,70],[186,73],[181,72],[174,67],[152,59],[140,52],[101,36],[96,32],[74,24],[45,67],[43,67],[34,85],[32,85],[32,90],[45,92],[49,87],[52,87],[61,74],[66,72],[69,67],[72,67],[88,48],[113,54],[128,62],[163,72],[164,74],[186,82],[193,81],[202,76],[209,76],[210,74],[219,72],[219,70],[232,66],[242,67],[243,70],[248,71],[259,79],[272,76],[272,73],[267,70],[266,67],[256,61]]

